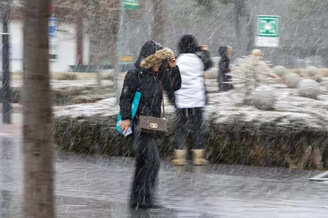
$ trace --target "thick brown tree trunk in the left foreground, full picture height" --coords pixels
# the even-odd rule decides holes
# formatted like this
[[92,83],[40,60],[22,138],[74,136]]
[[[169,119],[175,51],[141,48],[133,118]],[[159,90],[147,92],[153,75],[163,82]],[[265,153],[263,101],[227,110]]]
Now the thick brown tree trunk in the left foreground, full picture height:
[[49,73],[49,0],[26,0],[23,60],[24,217],[52,218],[53,155]]

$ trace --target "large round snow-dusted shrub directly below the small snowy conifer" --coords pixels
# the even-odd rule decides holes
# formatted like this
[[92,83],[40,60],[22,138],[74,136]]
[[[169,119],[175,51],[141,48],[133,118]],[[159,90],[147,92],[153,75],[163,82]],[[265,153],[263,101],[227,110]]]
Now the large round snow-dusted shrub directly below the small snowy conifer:
[[251,95],[252,105],[263,111],[272,110],[276,100],[275,89],[267,85],[258,86]]

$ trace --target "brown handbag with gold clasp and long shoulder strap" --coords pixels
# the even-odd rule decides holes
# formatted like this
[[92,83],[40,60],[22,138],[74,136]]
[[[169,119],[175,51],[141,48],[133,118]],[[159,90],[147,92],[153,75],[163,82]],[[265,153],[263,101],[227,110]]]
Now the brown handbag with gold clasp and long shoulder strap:
[[164,92],[163,86],[160,82],[160,88],[162,91],[162,118],[151,117],[151,116],[139,116],[136,126],[136,130],[144,134],[156,134],[164,135],[168,133],[168,127],[165,119],[165,106],[164,106]]

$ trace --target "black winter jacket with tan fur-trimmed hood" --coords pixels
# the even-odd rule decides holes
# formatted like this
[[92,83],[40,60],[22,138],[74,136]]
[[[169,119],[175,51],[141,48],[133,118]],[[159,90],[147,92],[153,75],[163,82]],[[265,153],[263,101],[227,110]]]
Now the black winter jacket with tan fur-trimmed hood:
[[[119,106],[122,120],[131,119],[131,103],[136,91],[141,93],[137,116],[160,117],[162,90],[167,91],[169,98],[174,91],[181,88],[181,76],[178,66],[173,69],[168,65],[171,50],[163,48],[158,42],[147,41],[142,46],[135,62],[135,68],[125,76]],[[158,73],[151,71],[156,62],[162,62]],[[173,92],[173,94],[172,94]],[[172,101],[173,99],[169,99]]]

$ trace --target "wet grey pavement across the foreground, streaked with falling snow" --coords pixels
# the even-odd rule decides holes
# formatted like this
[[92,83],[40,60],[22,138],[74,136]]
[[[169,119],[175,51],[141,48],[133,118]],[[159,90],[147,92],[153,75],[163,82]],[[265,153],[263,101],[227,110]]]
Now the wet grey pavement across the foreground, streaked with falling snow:
[[[0,138],[1,217],[24,217],[20,139]],[[128,207],[133,159],[56,151],[57,217],[328,217],[328,185],[318,171],[163,161],[158,201],[165,208]]]

